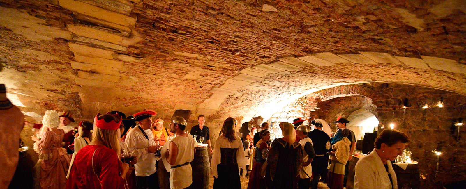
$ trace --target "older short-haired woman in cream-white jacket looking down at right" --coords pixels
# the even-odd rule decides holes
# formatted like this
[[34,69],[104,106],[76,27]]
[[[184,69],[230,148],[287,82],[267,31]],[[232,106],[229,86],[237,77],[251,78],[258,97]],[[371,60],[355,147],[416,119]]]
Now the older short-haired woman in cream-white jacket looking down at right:
[[377,136],[374,150],[356,163],[354,189],[398,189],[391,162],[402,154],[409,138],[395,129]]

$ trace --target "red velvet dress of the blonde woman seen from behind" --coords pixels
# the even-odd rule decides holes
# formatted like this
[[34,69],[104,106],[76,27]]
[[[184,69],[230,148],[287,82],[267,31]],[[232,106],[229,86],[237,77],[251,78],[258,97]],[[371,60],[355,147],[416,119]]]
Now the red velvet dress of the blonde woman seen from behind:
[[[94,169],[92,169],[93,154]],[[125,182],[119,176],[122,169],[122,164],[113,149],[106,146],[87,145],[76,154],[66,188],[124,189]]]

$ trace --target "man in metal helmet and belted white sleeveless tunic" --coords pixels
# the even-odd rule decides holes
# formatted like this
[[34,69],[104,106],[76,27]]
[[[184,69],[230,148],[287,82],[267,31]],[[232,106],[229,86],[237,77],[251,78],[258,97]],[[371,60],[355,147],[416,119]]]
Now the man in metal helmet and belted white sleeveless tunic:
[[185,118],[176,116],[171,120],[170,132],[175,133],[176,137],[171,140],[170,148],[165,154],[167,162],[171,165],[171,189],[184,189],[192,184],[192,168],[189,162],[194,159],[196,148],[194,138],[185,133],[185,128]]

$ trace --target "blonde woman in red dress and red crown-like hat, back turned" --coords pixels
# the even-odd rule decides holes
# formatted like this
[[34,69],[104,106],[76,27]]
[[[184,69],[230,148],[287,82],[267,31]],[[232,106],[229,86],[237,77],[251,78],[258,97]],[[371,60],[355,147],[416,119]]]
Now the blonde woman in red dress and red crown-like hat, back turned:
[[125,189],[129,165],[120,154],[121,116],[97,114],[92,142],[76,154],[67,189]]

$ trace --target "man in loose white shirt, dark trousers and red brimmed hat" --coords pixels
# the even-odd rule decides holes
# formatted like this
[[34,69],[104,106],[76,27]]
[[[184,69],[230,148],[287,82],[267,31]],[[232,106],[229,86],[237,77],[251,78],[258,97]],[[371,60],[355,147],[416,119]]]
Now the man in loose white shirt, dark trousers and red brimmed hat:
[[134,150],[137,157],[137,163],[134,165],[137,189],[159,189],[154,155],[159,146],[155,145],[151,131],[152,116],[156,114],[157,112],[152,110],[136,113],[134,121],[137,121],[138,126],[131,129],[126,136],[126,145],[129,150]]

